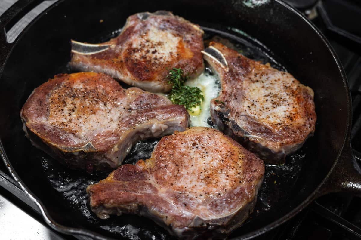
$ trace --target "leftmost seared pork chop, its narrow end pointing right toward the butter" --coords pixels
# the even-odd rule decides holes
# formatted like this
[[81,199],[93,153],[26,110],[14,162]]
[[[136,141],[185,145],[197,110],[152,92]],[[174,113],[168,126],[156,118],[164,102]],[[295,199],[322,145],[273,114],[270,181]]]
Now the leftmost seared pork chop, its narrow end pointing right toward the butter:
[[24,130],[42,139],[51,156],[90,172],[118,167],[133,143],[183,131],[189,119],[184,106],[139,88],[123,89],[103,73],[55,76],[35,88],[20,116]]

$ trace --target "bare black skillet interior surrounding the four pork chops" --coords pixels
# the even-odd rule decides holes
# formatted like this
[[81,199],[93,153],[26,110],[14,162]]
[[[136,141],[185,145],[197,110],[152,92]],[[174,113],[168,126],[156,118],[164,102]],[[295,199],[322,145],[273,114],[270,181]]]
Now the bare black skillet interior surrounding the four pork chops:
[[[79,202],[86,201],[81,195],[76,199],[74,191],[67,191],[64,183],[81,185],[77,171],[69,171],[48,156],[32,147],[22,131],[19,111],[35,87],[61,72],[68,72],[70,39],[81,42],[105,40],[104,36],[117,31],[125,19],[136,12],[159,9],[171,10],[204,27],[242,36],[232,29],[241,29],[259,40],[261,44],[248,39],[260,47],[262,52],[275,58],[302,83],[313,88],[317,113],[316,134],[309,139],[297,154],[288,158],[301,164],[297,174],[284,175],[267,181],[260,192],[256,210],[247,224],[236,230],[231,237],[261,230],[277,221],[301,204],[325,178],[344,140],[347,125],[347,89],[331,52],[317,33],[303,19],[296,17],[277,2],[264,1],[61,1],[42,14],[40,18],[21,35],[5,64],[1,76],[1,129],[0,138],[4,150],[20,179],[46,206],[51,217],[58,223],[71,227],[88,228],[106,236],[131,236],[140,226],[140,237],[165,237],[165,232],[152,221],[136,216],[113,217],[106,222],[94,220],[86,210],[79,210]],[[100,23],[99,20],[104,22]],[[271,51],[268,50],[271,49]],[[279,66],[281,67],[281,66]],[[281,67],[282,68],[282,67]],[[344,116],[344,117],[340,117]],[[152,141],[149,141],[152,148]],[[286,164],[287,166],[287,164]],[[277,168],[272,168],[277,171]],[[268,171],[270,173],[270,171]],[[84,175],[81,173],[80,175]],[[104,174],[90,177],[90,181],[104,178]],[[60,179],[58,182],[50,180]],[[282,187],[283,186],[283,187]],[[288,186],[288,187],[287,187]],[[56,187],[56,188],[55,188]],[[86,187],[86,186],[83,186]],[[65,189],[65,191],[64,191]],[[73,200],[75,205],[71,204]],[[277,201],[276,201],[277,200]],[[265,202],[271,204],[267,209]],[[84,208],[84,207],[83,207]],[[262,210],[267,209],[267,211]],[[95,218],[94,218],[95,219]],[[101,225],[101,226],[100,226]],[[113,231],[115,233],[111,233]]]

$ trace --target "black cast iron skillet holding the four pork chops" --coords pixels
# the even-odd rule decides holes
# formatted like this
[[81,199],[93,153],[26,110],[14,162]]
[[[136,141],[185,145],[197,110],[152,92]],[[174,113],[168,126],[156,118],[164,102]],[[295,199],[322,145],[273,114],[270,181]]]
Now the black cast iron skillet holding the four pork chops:
[[[25,138],[19,111],[35,87],[59,71],[66,71],[70,39],[87,42],[94,39],[94,35],[119,29],[131,14],[159,9],[173,11],[209,29],[223,32],[241,29],[271,49],[270,56],[277,56],[283,66],[315,92],[316,132],[299,152],[304,157],[299,159],[302,164],[293,176],[293,186],[272,188],[274,191],[268,192],[268,198],[279,199],[278,202],[268,211],[252,215],[252,219],[230,237],[250,239],[269,231],[326,193],[347,191],[361,195],[360,168],[350,145],[351,95],[344,70],[325,37],[287,4],[269,0],[212,3],[206,0],[63,0],[40,14],[14,43],[7,43],[5,31],[31,6],[33,1],[21,0],[0,18],[0,153],[14,179],[55,230],[109,239],[127,237],[126,231],[120,229],[129,227],[127,223],[143,224],[148,233],[158,229],[152,221],[131,215],[110,218],[106,222],[107,226],[113,226],[110,229],[104,227],[103,222],[87,221],[77,209],[68,206],[64,196],[44,176],[42,169],[47,155],[32,147]],[[104,20],[102,24],[100,19]],[[57,169],[52,169],[57,166],[47,164],[51,174],[59,174]],[[281,175],[278,181],[284,183],[287,179]],[[142,233],[144,238],[147,231]],[[160,235],[153,236],[168,238],[159,231]]]

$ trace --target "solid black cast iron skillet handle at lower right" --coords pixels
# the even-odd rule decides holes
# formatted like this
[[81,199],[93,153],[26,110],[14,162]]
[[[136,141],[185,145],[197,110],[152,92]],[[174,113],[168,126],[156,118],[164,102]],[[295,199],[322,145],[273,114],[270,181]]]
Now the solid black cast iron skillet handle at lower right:
[[361,197],[361,169],[349,140],[319,189],[318,196],[334,192],[348,192]]

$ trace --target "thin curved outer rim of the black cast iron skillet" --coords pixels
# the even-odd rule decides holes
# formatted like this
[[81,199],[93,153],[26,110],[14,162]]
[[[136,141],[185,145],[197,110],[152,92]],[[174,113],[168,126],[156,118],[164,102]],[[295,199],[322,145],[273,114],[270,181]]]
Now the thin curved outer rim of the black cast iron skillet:
[[[8,56],[6,56],[5,61],[4,61],[4,65],[1,66],[1,75],[3,73],[4,70],[4,66],[6,65],[8,58],[10,56],[10,54],[12,53],[14,47],[18,44],[18,40],[23,36],[23,34],[25,34],[27,32],[27,30],[30,29],[30,27],[36,22],[38,21],[39,18],[43,17],[44,14],[46,14],[49,10],[55,8],[59,3],[64,2],[65,0],[60,0],[58,2],[56,2],[55,4],[49,6],[49,8],[45,9],[42,13],[40,13],[29,25],[27,25],[27,27],[21,32],[21,34],[19,34],[19,36],[16,38],[16,40],[14,41],[13,45],[10,47],[10,51],[8,53]],[[289,10],[290,12],[292,12],[293,14],[295,14],[296,16],[300,17],[301,19],[303,19],[304,22],[306,22],[309,27],[312,28],[312,30],[314,32],[316,32],[316,34],[318,35],[319,38],[321,38],[321,40],[323,41],[323,43],[326,45],[327,49],[329,50],[329,52],[331,53],[331,56],[333,57],[334,61],[336,62],[336,65],[338,66],[338,69],[340,71],[341,74],[341,79],[343,81],[343,85],[344,85],[344,90],[347,91],[347,115],[346,117],[346,125],[345,125],[345,134],[344,134],[344,139],[343,139],[343,143],[342,143],[342,147],[339,150],[339,153],[337,154],[336,159],[334,160],[333,165],[330,168],[330,171],[327,173],[327,175],[325,176],[325,178],[322,180],[322,182],[318,185],[318,187],[304,200],[302,201],[298,206],[296,206],[295,208],[293,208],[293,210],[291,210],[290,212],[288,212],[287,214],[285,214],[283,217],[277,219],[274,222],[271,222],[269,224],[267,224],[264,227],[261,227],[258,230],[249,232],[247,234],[244,234],[242,236],[238,236],[238,237],[234,237],[232,239],[252,239],[253,237],[257,237],[260,236],[261,234],[264,234],[265,232],[268,232],[272,229],[274,229],[275,227],[280,226],[281,224],[283,224],[284,222],[288,221],[290,218],[294,217],[297,213],[299,213],[301,210],[303,210],[306,206],[308,206],[315,198],[317,198],[318,193],[320,192],[320,189],[322,188],[322,186],[325,185],[325,182],[329,179],[330,174],[332,173],[332,171],[335,168],[335,165],[337,164],[340,156],[342,155],[342,152],[344,149],[350,147],[349,145],[349,137],[350,137],[350,133],[351,133],[351,119],[352,119],[352,107],[351,107],[351,92],[349,89],[349,85],[347,82],[347,78],[346,78],[346,74],[344,72],[344,69],[342,67],[342,64],[340,64],[340,60],[338,58],[338,56],[336,55],[334,49],[331,47],[330,43],[327,41],[327,39],[325,38],[325,36],[317,29],[316,26],[314,26],[314,24],[312,22],[310,22],[307,18],[305,18],[298,10],[292,8],[290,5],[288,5],[287,3],[284,3],[281,0],[274,0],[277,4],[280,4],[281,6],[283,6],[284,8],[286,8],[287,10]],[[286,10],[285,9],[285,10]],[[0,77],[1,77],[0,75]],[[11,163],[8,160],[8,157],[6,156],[6,153],[4,151],[3,148],[3,144],[1,142],[0,139],[0,154],[1,154],[1,158],[3,159],[6,168],[8,169],[10,175],[13,177],[13,179],[19,184],[19,186],[21,187],[21,189],[26,193],[26,195],[36,204],[38,205],[38,208],[40,210],[40,212],[42,213],[43,219],[44,221],[50,226],[52,227],[54,230],[61,232],[63,234],[70,234],[70,235],[83,235],[83,236],[88,236],[88,237],[92,237],[94,239],[99,239],[99,240],[110,240],[113,238],[109,238],[106,237],[102,234],[93,232],[91,230],[85,229],[85,228],[74,228],[74,227],[66,227],[63,226],[61,224],[58,224],[57,222],[55,222],[52,217],[49,215],[47,208],[45,208],[44,204],[34,195],[34,193],[32,193],[30,191],[30,189],[26,186],[26,184],[24,184],[22,182],[22,180],[18,177],[16,171],[14,170],[14,168],[12,167]]]

